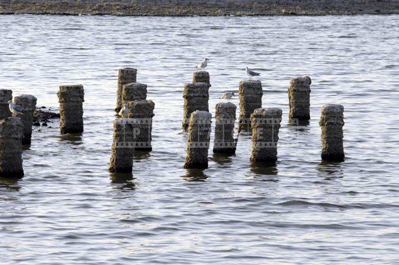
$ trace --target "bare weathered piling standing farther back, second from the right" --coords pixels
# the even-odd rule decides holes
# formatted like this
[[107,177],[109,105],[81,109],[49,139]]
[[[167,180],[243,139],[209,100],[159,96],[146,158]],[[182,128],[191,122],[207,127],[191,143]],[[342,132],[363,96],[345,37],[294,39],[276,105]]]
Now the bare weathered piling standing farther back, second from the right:
[[310,84],[309,76],[291,78],[288,88],[288,101],[290,119],[310,119]]

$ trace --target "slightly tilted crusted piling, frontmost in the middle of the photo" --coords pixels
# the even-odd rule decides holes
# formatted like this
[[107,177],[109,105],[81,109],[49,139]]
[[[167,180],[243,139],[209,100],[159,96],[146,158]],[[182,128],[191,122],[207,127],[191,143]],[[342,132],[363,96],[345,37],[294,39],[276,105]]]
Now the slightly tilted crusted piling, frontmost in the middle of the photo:
[[184,168],[207,168],[211,115],[207,111],[191,114]]

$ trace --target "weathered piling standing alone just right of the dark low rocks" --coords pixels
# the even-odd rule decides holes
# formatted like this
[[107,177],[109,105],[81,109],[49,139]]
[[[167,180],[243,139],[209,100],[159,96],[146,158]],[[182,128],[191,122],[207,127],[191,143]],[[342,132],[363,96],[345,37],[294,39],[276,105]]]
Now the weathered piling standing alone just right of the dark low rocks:
[[61,133],[83,132],[83,86],[60,85],[57,96],[59,102],[59,123]]

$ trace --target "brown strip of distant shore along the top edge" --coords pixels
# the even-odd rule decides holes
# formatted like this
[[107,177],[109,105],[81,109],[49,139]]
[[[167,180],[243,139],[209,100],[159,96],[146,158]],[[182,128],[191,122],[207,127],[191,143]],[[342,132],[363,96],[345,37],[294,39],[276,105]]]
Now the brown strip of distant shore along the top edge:
[[398,14],[398,0],[1,0],[0,14],[217,16]]

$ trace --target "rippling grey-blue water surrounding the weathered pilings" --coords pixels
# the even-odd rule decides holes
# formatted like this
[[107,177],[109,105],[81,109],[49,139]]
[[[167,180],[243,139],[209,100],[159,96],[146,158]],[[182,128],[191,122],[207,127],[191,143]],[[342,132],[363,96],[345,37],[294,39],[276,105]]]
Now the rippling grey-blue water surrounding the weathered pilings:
[[[0,16],[0,87],[58,108],[85,89],[85,132],[35,127],[25,176],[0,179],[0,261],[86,264],[394,263],[398,260],[399,15]],[[210,111],[261,72],[283,109],[278,162],[237,154],[183,169],[183,87],[209,58]],[[151,153],[110,174],[117,69],[138,68],[155,117]],[[309,125],[288,126],[289,78],[312,77]],[[238,99],[233,99],[238,105]],[[346,161],[323,163],[318,119],[345,106]]]

